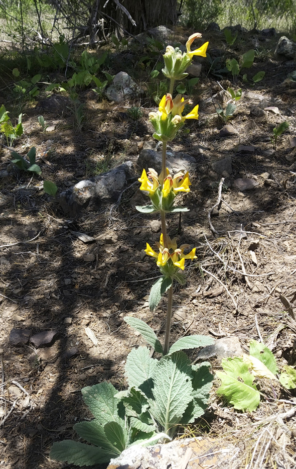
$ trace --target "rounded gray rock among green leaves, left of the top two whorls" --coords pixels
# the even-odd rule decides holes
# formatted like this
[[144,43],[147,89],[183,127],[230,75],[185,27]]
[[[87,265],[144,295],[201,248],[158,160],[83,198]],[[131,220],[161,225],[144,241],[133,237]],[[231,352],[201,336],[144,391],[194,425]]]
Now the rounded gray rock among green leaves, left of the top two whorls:
[[110,86],[105,90],[105,95],[110,101],[120,103],[129,98],[139,96],[140,88],[125,72],[117,73]]

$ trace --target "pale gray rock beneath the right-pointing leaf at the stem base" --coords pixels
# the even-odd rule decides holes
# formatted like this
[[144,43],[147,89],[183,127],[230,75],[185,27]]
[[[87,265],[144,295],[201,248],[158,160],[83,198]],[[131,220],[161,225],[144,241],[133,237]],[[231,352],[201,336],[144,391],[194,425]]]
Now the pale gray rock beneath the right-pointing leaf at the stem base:
[[205,360],[212,356],[225,358],[229,356],[241,356],[243,353],[237,337],[223,337],[216,340],[213,345],[207,345],[202,348],[198,354],[198,360]]

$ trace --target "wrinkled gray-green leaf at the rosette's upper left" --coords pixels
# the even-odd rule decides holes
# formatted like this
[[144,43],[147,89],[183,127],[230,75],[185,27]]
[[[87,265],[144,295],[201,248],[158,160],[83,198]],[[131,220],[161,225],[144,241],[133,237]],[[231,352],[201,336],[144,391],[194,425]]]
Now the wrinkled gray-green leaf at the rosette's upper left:
[[117,391],[111,383],[103,382],[87,386],[82,388],[81,393],[90,412],[102,425],[112,421],[121,423],[122,419],[118,415],[118,400],[114,397]]

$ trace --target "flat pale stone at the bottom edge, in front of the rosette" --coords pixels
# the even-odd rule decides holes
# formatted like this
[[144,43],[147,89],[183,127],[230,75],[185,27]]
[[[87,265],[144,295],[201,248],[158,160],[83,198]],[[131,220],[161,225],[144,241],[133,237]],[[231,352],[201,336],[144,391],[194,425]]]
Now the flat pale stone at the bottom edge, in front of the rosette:
[[174,440],[167,444],[131,446],[111,459],[107,469],[236,469],[233,459],[239,452],[231,443],[213,438],[196,437]]

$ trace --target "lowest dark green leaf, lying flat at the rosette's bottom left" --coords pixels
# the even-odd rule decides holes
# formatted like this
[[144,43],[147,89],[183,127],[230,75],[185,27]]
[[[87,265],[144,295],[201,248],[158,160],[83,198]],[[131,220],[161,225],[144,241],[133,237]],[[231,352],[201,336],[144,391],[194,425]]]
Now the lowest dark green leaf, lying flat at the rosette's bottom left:
[[66,461],[80,467],[110,462],[110,459],[116,455],[106,449],[72,440],[54,443],[49,453],[49,456],[56,461]]

